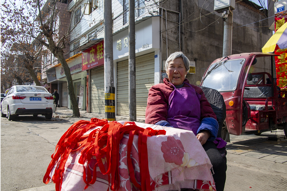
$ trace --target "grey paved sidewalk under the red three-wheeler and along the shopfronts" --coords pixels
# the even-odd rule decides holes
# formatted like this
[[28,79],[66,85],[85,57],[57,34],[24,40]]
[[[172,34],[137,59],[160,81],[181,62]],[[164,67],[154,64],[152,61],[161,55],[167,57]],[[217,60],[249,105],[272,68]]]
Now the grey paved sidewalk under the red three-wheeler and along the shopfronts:
[[[105,114],[92,114],[80,111],[82,120],[92,117],[105,118]],[[57,108],[53,116],[70,117],[71,109]],[[128,120],[127,116],[116,116],[116,120]],[[145,122],[137,117],[137,122]],[[277,141],[270,141],[270,138]],[[227,172],[225,191],[287,190],[287,139],[282,130],[276,133],[264,132],[260,136],[230,136],[227,149]],[[52,191],[51,185],[26,189],[25,191]],[[36,189],[36,190],[35,190]]]

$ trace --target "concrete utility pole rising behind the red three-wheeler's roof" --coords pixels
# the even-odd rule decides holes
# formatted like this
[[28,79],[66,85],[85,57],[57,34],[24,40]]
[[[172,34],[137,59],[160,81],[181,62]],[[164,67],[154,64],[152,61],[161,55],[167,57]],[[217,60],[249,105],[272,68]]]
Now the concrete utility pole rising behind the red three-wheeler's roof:
[[229,56],[232,54],[232,26],[233,26],[233,13],[230,8],[226,10],[224,19],[224,33],[223,33],[223,52],[222,56]]

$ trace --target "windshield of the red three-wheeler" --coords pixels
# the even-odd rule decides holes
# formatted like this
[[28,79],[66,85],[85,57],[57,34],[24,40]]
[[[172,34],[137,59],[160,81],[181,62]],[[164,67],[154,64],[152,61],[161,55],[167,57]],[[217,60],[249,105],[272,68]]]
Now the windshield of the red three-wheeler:
[[245,59],[227,60],[212,64],[206,73],[202,86],[219,92],[235,90],[244,61]]

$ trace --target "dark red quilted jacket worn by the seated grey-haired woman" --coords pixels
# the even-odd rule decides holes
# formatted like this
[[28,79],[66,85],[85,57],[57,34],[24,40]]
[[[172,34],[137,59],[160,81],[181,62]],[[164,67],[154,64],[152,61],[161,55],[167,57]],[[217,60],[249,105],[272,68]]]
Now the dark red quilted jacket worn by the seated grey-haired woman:
[[[148,92],[147,108],[145,110],[145,123],[147,124],[155,124],[161,120],[166,121],[167,109],[169,107],[169,96],[174,90],[174,87],[167,78],[164,78],[163,82],[164,83],[152,86]],[[184,82],[189,83],[188,79],[185,79]],[[200,120],[205,117],[213,117],[214,119],[217,119],[201,88],[192,84],[191,86],[201,95]],[[183,87],[189,86],[185,84]]]

